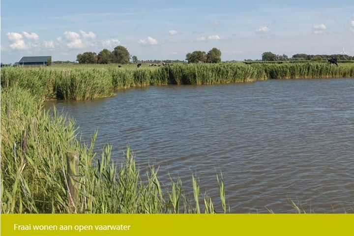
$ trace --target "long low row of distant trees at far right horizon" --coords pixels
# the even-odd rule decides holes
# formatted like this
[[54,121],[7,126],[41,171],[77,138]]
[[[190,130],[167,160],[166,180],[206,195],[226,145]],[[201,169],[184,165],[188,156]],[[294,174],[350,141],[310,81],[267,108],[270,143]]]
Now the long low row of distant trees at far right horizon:
[[333,54],[333,55],[308,55],[308,54],[295,54],[293,57],[288,58],[287,55],[276,55],[272,52],[265,52],[262,54],[262,60],[275,61],[275,60],[328,60],[337,58],[340,60],[353,60],[354,58],[348,55]]

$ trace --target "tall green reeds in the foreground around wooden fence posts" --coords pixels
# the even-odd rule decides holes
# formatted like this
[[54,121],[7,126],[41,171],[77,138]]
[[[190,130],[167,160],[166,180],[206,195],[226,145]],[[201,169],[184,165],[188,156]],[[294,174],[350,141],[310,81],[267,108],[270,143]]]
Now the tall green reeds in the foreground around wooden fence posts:
[[[148,181],[142,182],[129,148],[118,158],[122,162],[115,163],[110,146],[93,151],[96,134],[89,145],[76,134],[74,122],[45,111],[40,96],[22,88],[2,90],[1,213],[214,212],[211,198],[199,193],[196,177],[194,198],[188,199],[180,180],[160,184],[157,168],[150,167]],[[79,165],[68,167],[73,153]],[[225,212],[222,177],[215,177],[215,186],[221,197],[215,201]]]

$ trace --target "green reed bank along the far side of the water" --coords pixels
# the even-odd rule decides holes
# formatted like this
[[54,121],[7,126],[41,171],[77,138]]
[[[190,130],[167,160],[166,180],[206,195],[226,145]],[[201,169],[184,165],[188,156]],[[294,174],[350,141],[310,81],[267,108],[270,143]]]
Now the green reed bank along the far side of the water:
[[159,85],[210,85],[267,79],[354,77],[354,63],[174,64],[118,68],[70,65],[44,68],[1,68],[1,86],[30,89],[44,99],[88,100],[111,96],[118,89]]

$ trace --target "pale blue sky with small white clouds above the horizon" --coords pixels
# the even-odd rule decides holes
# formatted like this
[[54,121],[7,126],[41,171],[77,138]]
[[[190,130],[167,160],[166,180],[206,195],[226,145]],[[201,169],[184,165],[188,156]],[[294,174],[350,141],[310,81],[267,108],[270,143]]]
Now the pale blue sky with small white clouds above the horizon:
[[263,52],[354,55],[354,0],[1,0],[1,62],[76,60],[122,45],[138,59]]

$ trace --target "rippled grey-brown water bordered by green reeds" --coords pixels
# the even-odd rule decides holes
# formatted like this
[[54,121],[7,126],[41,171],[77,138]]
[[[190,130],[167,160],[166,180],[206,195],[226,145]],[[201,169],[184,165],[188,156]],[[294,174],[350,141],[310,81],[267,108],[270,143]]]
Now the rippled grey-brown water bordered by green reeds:
[[51,102],[77,120],[96,147],[129,144],[144,172],[180,177],[220,206],[222,171],[232,212],[354,211],[354,79],[269,80],[148,87],[85,102]]

